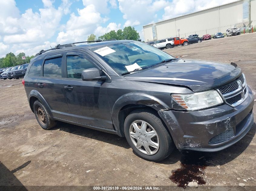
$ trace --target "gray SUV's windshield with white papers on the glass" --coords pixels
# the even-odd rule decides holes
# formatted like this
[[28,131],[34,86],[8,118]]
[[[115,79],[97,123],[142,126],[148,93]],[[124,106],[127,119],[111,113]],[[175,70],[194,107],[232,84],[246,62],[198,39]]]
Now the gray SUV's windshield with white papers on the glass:
[[151,45],[138,41],[112,44],[91,50],[105,60],[118,74],[153,66],[166,59],[175,59]]

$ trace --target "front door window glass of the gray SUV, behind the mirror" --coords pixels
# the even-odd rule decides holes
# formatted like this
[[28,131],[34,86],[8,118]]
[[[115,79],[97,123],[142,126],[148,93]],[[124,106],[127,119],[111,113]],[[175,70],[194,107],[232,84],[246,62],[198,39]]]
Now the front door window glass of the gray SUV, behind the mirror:
[[82,78],[82,71],[95,68],[95,65],[81,56],[67,56],[68,78]]

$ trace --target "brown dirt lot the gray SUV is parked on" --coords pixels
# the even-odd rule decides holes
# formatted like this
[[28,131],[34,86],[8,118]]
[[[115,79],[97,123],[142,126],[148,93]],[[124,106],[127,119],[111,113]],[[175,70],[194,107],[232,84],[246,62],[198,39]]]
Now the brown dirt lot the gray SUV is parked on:
[[[256,33],[253,33],[165,51],[186,59],[235,62],[256,92],[255,42]],[[226,150],[216,153],[175,150],[165,161],[149,162],[137,157],[125,138],[118,135],[66,123],[43,130],[28,106],[21,81],[0,80],[0,186],[56,190],[56,187],[30,186],[155,185],[181,189],[169,179],[172,170],[176,170],[173,180],[187,174],[190,181],[205,181],[198,189],[206,189],[205,186],[230,189],[228,186],[238,183],[244,183],[245,188],[234,189],[256,189],[255,123],[241,141]],[[242,179],[248,179],[247,183]]]

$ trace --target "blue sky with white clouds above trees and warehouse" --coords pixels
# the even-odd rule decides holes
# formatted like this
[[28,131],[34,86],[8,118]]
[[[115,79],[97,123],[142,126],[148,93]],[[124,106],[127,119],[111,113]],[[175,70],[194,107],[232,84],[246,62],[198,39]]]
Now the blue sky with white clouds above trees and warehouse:
[[234,0],[0,0],[0,57],[177,17]]

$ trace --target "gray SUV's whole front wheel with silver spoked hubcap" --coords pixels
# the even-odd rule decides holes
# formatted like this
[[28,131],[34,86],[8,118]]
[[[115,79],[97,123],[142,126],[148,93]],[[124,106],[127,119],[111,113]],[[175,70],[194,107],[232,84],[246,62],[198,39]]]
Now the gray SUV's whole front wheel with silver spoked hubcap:
[[[140,132],[136,132],[134,126],[132,125],[135,123],[138,124],[137,127],[140,127],[140,124],[142,126],[144,123],[146,131],[138,129]],[[148,112],[148,110],[140,109],[131,112],[125,119],[124,131],[125,137],[135,154],[148,161],[157,162],[164,160],[174,149],[171,136],[169,135],[165,126],[162,124],[161,119],[155,114]],[[149,138],[150,135],[152,135],[152,133],[148,133],[149,131],[155,131],[156,135]],[[131,137],[130,133],[132,133],[134,137]],[[146,134],[147,136],[145,136]],[[138,143],[140,143],[140,145],[138,145]],[[135,144],[138,145],[139,148],[137,148]],[[158,148],[153,148],[151,145]]]

